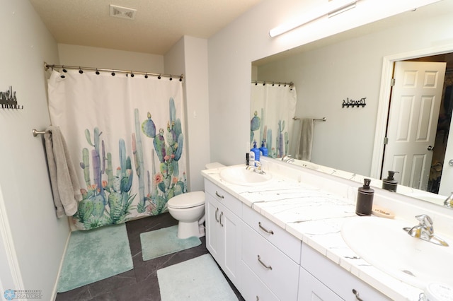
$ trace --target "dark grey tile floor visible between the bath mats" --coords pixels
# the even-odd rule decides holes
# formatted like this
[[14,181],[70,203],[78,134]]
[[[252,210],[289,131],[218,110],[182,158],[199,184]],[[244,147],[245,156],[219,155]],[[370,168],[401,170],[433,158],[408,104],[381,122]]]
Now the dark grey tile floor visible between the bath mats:
[[[202,244],[198,247],[168,254],[149,261],[143,261],[140,233],[170,227],[177,223],[177,220],[173,219],[169,213],[127,222],[127,235],[129,237],[134,268],[131,271],[121,273],[103,281],[91,283],[81,288],[70,290],[69,292],[58,293],[56,300],[160,301],[161,296],[157,281],[157,270],[171,266],[172,264],[178,264],[181,261],[193,259],[208,252],[205,237],[201,237]],[[239,301],[243,301],[243,298],[238,290],[234,288],[234,285],[231,283],[230,285],[236,296],[238,296]]]

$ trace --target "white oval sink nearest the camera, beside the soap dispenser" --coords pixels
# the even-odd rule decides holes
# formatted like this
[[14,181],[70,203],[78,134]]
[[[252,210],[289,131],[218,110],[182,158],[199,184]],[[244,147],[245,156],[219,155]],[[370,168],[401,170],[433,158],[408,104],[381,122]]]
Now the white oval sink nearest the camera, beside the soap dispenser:
[[435,233],[450,246],[444,247],[411,237],[403,228],[413,225],[402,220],[357,217],[343,224],[341,235],[362,259],[400,281],[422,290],[432,282],[453,286],[453,272],[447,268],[453,259],[452,240]]

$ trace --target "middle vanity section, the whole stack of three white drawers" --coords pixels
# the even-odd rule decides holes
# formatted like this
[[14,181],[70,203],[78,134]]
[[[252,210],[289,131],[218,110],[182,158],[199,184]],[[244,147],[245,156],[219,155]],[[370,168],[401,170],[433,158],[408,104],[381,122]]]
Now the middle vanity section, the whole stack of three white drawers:
[[297,300],[300,240],[246,205],[242,214],[244,299]]

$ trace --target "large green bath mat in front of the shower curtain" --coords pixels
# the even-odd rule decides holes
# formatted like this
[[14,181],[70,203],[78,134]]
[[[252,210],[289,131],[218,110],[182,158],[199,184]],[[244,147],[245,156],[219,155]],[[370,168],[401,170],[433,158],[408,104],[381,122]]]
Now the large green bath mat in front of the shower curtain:
[[57,292],[67,292],[133,267],[125,224],[75,231],[69,237]]

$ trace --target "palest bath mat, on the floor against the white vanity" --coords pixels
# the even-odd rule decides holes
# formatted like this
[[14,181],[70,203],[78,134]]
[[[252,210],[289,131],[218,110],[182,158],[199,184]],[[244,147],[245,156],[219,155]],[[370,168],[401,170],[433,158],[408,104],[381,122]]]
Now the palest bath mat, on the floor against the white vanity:
[[237,301],[210,254],[157,270],[162,301]]

